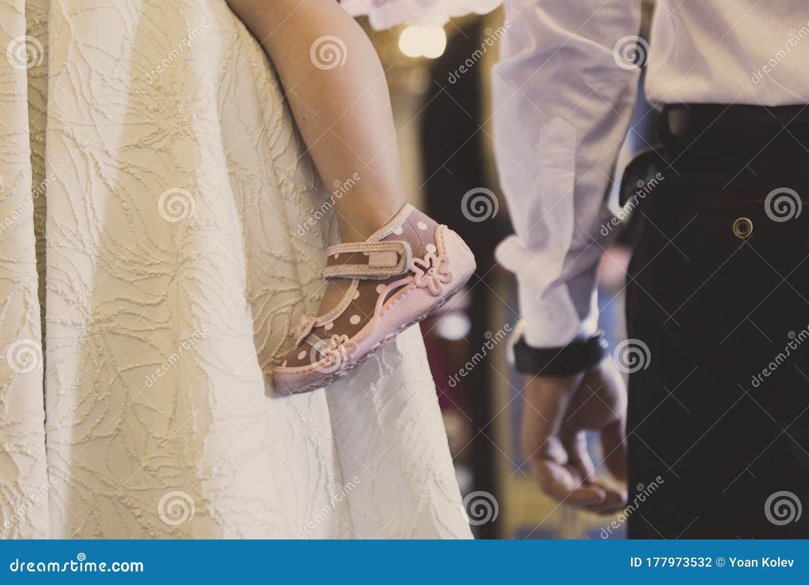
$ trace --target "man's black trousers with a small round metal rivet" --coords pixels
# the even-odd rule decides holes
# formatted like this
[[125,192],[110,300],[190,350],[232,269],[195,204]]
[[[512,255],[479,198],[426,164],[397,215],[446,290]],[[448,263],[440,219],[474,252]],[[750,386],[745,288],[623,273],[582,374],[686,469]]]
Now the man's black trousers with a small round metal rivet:
[[670,138],[636,210],[630,538],[809,537],[809,129],[744,118]]

